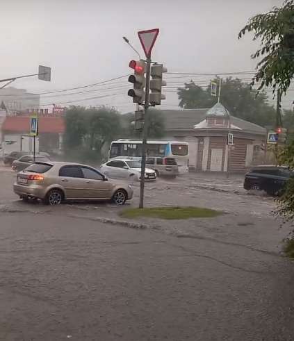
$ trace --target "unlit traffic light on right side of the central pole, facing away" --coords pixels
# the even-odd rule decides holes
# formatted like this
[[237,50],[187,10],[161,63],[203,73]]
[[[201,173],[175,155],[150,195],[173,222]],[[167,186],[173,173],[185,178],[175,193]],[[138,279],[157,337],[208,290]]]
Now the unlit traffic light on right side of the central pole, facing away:
[[151,93],[149,94],[149,102],[151,106],[159,106],[161,104],[161,100],[165,99],[165,95],[161,93],[162,87],[166,85],[166,82],[163,81],[163,74],[165,72],[168,72],[168,69],[166,69],[166,67],[163,67],[162,64],[154,64],[151,67]]

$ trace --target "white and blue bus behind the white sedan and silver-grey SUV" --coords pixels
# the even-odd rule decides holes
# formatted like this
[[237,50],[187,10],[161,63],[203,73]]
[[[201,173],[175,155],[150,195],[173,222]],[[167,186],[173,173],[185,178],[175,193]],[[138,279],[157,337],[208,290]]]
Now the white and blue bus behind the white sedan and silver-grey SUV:
[[[179,166],[179,173],[188,172],[188,142],[179,141],[147,141],[147,156],[160,156],[167,158],[176,158]],[[142,141],[120,139],[111,142],[108,158],[117,158],[119,156],[129,156],[131,158],[141,158]]]

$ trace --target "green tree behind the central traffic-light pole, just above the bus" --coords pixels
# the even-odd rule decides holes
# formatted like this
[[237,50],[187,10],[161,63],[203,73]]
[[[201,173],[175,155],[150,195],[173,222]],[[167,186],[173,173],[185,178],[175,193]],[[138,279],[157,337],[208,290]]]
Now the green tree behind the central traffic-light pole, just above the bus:
[[[160,139],[165,135],[165,122],[161,114],[161,110],[150,108],[148,111],[148,138]],[[131,122],[135,121],[135,114],[129,113],[122,115],[124,119],[124,137],[125,138],[142,138],[140,131],[136,131],[135,126]]]

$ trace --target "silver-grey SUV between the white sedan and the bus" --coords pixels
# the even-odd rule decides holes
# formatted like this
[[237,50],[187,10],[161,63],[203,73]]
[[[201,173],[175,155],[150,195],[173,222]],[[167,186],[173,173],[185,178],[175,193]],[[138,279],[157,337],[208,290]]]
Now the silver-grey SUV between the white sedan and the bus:
[[179,175],[179,166],[176,158],[159,158],[147,157],[146,165],[148,168],[154,169],[156,176],[171,176],[175,178]]

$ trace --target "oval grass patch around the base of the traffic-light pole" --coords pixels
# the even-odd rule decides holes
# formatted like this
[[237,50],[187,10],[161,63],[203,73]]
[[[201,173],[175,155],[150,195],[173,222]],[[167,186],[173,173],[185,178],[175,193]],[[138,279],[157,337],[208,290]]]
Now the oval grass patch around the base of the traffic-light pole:
[[221,215],[218,210],[200,207],[158,207],[158,208],[127,208],[120,216],[126,219],[138,217],[151,217],[160,219],[188,219],[188,218],[212,218]]

